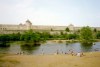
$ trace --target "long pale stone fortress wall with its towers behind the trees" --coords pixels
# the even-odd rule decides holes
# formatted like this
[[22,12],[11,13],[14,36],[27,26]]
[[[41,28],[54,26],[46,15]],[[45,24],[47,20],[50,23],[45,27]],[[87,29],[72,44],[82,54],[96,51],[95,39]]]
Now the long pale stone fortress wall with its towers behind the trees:
[[[70,31],[78,31],[82,27],[75,27],[70,24],[68,26],[43,26],[43,25],[32,25],[29,20],[26,20],[25,24],[20,23],[19,25],[7,25],[0,24],[0,34],[11,34],[11,33],[22,33],[26,30],[32,29],[33,31],[43,32],[47,31],[51,34],[65,32],[66,28],[69,28]],[[91,29],[96,29],[100,31],[100,27],[91,27]]]

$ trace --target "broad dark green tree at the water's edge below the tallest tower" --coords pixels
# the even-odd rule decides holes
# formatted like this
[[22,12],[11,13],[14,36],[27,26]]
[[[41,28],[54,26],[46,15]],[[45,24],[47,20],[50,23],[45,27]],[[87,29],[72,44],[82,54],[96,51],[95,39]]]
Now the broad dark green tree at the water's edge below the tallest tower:
[[41,41],[40,33],[33,32],[33,30],[28,30],[23,33],[20,39],[25,41],[26,46],[39,46]]

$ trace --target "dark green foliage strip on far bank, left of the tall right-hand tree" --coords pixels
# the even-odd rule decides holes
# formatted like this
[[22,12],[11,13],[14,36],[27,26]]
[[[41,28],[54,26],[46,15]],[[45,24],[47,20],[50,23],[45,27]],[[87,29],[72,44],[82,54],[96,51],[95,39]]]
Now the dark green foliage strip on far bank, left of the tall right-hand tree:
[[[85,35],[85,34],[84,34]],[[90,34],[88,35],[90,36]],[[3,34],[0,35],[0,41],[25,41],[25,42],[40,42],[51,39],[78,39],[79,34],[76,33],[64,33],[63,31],[56,34],[50,34],[49,32],[34,32],[33,30],[25,31],[24,33],[16,34]]]

